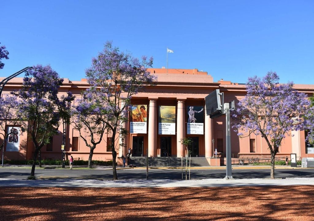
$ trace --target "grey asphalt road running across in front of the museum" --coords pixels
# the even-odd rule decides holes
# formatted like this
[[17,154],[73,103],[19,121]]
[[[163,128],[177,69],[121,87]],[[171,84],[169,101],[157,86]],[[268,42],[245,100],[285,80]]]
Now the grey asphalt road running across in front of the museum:
[[[146,169],[119,169],[119,179],[146,179]],[[26,179],[30,169],[0,169],[0,178]],[[235,179],[269,178],[270,169],[233,169]],[[111,169],[36,169],[36,178],[70,178],[111,180]],[[185,171],[183,170],[185,177]],[[191,169],[191,179],[221,179],[226,176],[222,169]],[[314,177],[314,169],[275,169],[276,178]],[[181,179],[181,169],[149,169],[149,179]]]

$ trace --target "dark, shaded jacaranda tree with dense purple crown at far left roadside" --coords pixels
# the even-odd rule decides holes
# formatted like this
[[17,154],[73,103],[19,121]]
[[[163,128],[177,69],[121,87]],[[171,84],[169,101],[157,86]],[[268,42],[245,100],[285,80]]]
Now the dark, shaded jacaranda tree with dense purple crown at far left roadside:
[[13,92],[21,101],[21,124],[35,146],[31,177],[35,175],[36,159],[41,148],[58,134],[62,116],[69,117],[67,102],[73,100],[73,96],[71,93],[60,98],[57,96],[62,82],[63,79],[49,65],[36,65],[27,70],[22,89]]

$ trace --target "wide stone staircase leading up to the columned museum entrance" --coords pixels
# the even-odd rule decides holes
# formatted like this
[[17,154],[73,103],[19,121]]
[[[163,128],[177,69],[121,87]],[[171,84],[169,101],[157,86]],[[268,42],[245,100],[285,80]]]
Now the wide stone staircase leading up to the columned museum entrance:
[[[189,166],[187,158],[187,166]],[[129,164],[137,167],[146,167],[146,157],[130,157]],[[148,157],[149,167],[181,167],[181,157]],[[186,165],[186,158],[183,157],[183,167]],[[209,166],[206,157],[191,157],[191,167]]]

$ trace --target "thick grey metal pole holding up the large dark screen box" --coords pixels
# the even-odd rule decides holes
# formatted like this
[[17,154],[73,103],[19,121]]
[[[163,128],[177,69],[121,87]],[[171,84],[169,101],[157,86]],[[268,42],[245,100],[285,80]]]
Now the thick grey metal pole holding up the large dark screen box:
[[230,107],[229,103],[225,103],[226,113],[226,176],[225,179],[232,178],[231,168],[231,138],[230,138]]

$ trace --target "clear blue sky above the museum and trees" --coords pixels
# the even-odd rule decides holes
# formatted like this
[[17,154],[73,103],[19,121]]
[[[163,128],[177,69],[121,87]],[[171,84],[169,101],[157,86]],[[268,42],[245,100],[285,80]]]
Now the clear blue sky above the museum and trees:
[[207,71],[246,83],[276,71],[280,82],[314,84],[314,1],[2,1],[5,77],[50,64],[80,80],[107,40],[154,68]]

